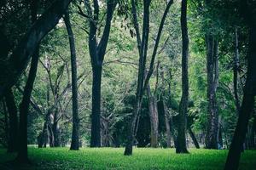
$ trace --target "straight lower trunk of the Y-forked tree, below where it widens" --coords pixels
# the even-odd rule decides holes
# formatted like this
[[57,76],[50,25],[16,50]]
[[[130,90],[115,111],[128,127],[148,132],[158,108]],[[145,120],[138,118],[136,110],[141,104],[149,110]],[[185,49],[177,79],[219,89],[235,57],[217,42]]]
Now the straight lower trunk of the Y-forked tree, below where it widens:
[[90,147],[101,147],[102,66],[93,68]]

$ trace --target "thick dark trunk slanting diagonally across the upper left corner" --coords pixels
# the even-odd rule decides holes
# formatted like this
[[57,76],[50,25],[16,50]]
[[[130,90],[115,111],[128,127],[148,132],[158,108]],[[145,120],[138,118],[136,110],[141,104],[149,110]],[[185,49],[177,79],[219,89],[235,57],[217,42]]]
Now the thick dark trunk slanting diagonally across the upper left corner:
[[11,88],[19,79],[21,73],[38,48],[39,42],[53,29],[61,19],[68,4],[72,0],[57,0],[34,23],[32,28],[22,38],[14,53],[0,66],[0,98],[6,89]]

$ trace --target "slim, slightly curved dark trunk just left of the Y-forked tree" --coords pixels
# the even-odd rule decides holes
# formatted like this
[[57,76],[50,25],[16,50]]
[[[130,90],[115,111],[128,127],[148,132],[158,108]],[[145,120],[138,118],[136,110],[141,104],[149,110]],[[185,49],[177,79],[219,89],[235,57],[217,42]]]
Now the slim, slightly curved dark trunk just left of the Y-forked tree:
[[71,75],[72,75],[72,102],[73,102],[73,131],[70,150],[79,150],[79,102],[78,102],[78,78],[77,78],[77,59],[73,36],[73,30],[69,20],[68,11],[64,17],[69,38],[71,54]]

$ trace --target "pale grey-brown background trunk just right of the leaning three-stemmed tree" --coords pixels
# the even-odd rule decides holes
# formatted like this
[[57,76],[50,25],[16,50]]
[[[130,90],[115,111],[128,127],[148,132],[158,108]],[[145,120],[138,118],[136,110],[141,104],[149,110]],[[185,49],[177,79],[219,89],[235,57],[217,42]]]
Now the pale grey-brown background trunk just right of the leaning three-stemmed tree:
[[150,145],[151,147],[157,148],[158,147],[158,111],[157,111],[157,102],[155,101],[155,97],[151,94],[151,89],[148,84],[147,88],[148,94],[148,111],[149,111],[149,118],[150,118]]

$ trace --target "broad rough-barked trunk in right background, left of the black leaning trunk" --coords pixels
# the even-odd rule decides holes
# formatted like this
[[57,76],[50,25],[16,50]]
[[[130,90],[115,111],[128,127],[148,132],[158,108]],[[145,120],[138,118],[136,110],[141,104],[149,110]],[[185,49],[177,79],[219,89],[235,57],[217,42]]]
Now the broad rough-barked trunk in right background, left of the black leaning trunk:
[[206,148],[218,149],[218,108],[216,90],[218,86],[218,41],[206,35],[207,42],[207,134]]

